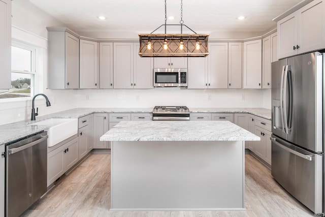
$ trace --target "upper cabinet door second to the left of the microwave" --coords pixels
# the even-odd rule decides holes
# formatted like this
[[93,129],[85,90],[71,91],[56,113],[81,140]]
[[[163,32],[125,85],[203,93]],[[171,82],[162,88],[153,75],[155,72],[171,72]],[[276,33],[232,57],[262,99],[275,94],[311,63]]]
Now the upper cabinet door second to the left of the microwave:
[[133,89],[133,43],[113,43],[114,88]]

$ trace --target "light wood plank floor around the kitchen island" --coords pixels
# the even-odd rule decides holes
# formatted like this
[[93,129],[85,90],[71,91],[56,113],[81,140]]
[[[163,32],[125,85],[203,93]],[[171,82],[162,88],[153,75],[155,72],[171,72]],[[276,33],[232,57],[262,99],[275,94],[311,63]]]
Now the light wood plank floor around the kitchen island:
[[245,154],[245,211],[109,211],[110,154],[90,154],[23,216],[314,216]]

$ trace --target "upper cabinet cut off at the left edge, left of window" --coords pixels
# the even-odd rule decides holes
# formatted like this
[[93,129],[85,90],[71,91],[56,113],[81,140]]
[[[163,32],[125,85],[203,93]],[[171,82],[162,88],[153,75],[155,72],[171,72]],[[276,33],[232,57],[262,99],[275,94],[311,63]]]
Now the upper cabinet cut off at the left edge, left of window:
[[[0,89],[11,87],[11,1],[0,1]],[[3,203],[2,203],[3,204]],[[1,210],[1,209],[0,209]]]

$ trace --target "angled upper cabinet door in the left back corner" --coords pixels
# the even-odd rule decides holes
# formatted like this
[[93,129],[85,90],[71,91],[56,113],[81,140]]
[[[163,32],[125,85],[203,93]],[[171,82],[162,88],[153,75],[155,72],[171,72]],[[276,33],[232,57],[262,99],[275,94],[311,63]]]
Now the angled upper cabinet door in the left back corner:
[[98,43],[80,40],[80,88],[99,88]]

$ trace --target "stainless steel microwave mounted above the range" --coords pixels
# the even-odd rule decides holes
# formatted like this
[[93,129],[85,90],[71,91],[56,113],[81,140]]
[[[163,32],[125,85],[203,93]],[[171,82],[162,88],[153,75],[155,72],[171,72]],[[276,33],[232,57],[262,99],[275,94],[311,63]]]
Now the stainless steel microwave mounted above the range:
[[187,87],[187,69],[154,69],[153,86]]

